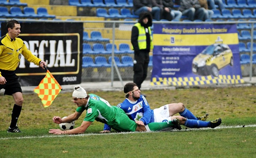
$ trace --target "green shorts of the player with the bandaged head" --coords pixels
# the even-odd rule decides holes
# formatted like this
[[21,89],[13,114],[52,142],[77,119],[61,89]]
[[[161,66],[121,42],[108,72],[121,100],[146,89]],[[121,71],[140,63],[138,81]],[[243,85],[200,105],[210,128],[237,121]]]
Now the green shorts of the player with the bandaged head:
[[129,119],[123,109],[116,109],[117,113],[119,114],[119,124],[110,125],[112,129],[121,132],[136,131],[137,124],[133,120]]

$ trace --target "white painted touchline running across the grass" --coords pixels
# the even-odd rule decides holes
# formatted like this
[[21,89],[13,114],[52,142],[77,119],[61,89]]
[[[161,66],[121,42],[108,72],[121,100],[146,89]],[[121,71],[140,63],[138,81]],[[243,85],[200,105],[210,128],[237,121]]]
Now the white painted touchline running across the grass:
[[[242,125],[237,126],[218,126],[214,129],[210,128],[194,128],[194,129],[182,129],[182,130],[171,130],[171,132],[182,132],[182,131],[196,131],[196,130],[217,130],[217,129],[230,129],[230,128],[242,128]],[[244,127],[256,127],[255,125],[244,125]],[[151,131],[150,131],[151,132]],[[160,132],[160,131],[156,131]],[[134,134],[134,133],[141,133],[141,132],[113,132],[113,133],[90,133],[90,134],[78,134],[78,135],[44,135],[44,136],[25,136],[25,137],[7,137],[7,138],[0,138],[0,140],[11,140],[11,139],[31,139],[31,138],[53,138],[53,137],[83,137],[83,136],[96,136],[96,135],[117,135],[117,134]]]

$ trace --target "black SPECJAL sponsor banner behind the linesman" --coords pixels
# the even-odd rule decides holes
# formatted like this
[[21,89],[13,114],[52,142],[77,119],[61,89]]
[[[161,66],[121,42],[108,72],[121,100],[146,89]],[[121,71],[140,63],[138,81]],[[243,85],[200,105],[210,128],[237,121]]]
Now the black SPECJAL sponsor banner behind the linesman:
[[[47,68],[60,85],[81,83],[83,24],[75,22],[20,22],[21,38],[27,48],[46,61]],[[1,34],[7,31],[1,23]],[[21,86],[37,86],[46,70],[23,56],[16,69]]]

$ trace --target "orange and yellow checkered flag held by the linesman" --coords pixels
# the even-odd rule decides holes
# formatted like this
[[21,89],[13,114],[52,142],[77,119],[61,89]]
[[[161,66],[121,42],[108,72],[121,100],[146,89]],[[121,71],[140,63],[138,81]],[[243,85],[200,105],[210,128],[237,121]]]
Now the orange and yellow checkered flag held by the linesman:
[[50,71],[48,69],[46,70],[46,76],[34,89],[34,92],[41,98],[44,108],[49,107],[60,91],[62,91],[62,87],[55,80]]

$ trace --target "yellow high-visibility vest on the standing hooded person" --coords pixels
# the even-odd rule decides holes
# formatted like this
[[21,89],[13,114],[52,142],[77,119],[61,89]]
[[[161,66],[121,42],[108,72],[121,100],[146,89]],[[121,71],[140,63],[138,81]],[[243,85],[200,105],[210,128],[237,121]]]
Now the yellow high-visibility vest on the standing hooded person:
[[[136,24],[134,24],[134,26],[136,26],[139,30],[139,37],[138,37],[139,49],[146,49],[146,31],[145,31],[145,28],[143,26],[141,26],[140,23],[136,23]],[[148,27],[148,31],[149,31],[149,34],[150,34],[150,49],[153,49],[154,45],[153,45],[153,40],[152,40],[152,36],[151,36],[150,27]]]

